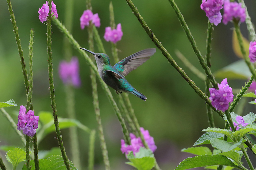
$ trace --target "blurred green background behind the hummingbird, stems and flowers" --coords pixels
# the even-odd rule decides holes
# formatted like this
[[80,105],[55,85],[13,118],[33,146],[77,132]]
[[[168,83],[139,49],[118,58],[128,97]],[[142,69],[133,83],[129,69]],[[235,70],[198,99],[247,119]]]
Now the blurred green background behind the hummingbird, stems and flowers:
[[[98,13],[101,19],[101,27],[98,29],[99,34],[106,52],[112,60],[111,64],[113,65],[111,44],[103,39],[105,27],[109,26],[110,21],[109,2],[110,1],[106,0],[92,0],[92,7],[93,13]],[[48,90],[48,56],[46,52],[47,28],[44,23],[39,21],[37,12],[44,3],[45,1],[12,1],[27,66],[29,31],[33,28],[35,32],[35,42],[33,46],[34,89],[32,99],[35,115],[37,115],[39,111],[51,111]],[[58,19],[64,22],[64,1],[55,0],[54,3],[57,5]],[[117,43],[117,47],[120,50],[119,58],[123,59],[137,51],[155,47],[154,43],[137,21],[130,7],[126,4],[126,1],[113,0],[112,3],[114,6],[115,23],[122,24],[124,34],[122,40]],[[205,91],[204,82],[191,73],[174,53],[174,51],[178,49],[194,66],[200,71],[203,71],[169,2],[167,0],[134,0],[133,3],[177,64],[184,69],[190,79],[192,79],[202,91]],[[197,42],[201,54],[204,55],[206,51],[208,18],[205,16],[205,12],[200,9],[201,1],[177,0],[176,3]],[[256,11],[254,10],[256,2],[247,0],[246,5],[248,6],[252,22],[254,22],[256,19]],[[87,29],[81,30],[79,21],[84,10],[86,10],[85,1],[74,1],[72,32],[73,37],[78,43],[82,47],[88,48]],[[27,99],[25,95],[24,79],[6,1],[0,1],[0,23],[0,101],[5,102],[9,99],[13,99],[18,105],[25,105]],[[216,72],[218,69],[239,60],[232,49],[232,27],[232,23],[228,25],[220,23],[217,27],[214,26],[211,62],[212,72]],[[245,23],[241,24],[241,30],[243,35],[248,38]],[[52,32],[52,56],[58,116],[67,117],[66,95],[64,92],[65,86],[58,76],[59,62],[64,59],[64,37],[55,25],[52,26]],[[97,47],[95,47],[95,52],[101,51],[98,51]],[[77,56],[79,59],[80,76],[82,80],[82,86],[74,90],[76,116],[82,124],[91,129],[97,129],[92,104],[92,90],[89,77],[90,70],[84,58],[79,55],[77,49],[73,49],[72,53],[73,56]],[[158,164],[163,170],[174,169],[179,162],[189,156],[193,156],[191,154],[182,153],[180,150],[182,148],[191,147],[203,134],[201,130],[209,126],[205,102],[183,80],[158,49],[150,60],[137,70],[131,72],[126,78],[133,87],[148,98],[146,102],[143,102],[134,95],[129,95],[138,122],[142,127],[148,129],[150,135],[155,139],[158,147],[155,151],[155,157]],[[216,80],[220,83],[223,78],[225,77],[220,77]],[[228,79],[228,82],[229,86],[235,89],[241,88],[246,80],[237,81]],[[111,92],[114,98],[117,99],[115,91],[111,89]],[[131,169],[129,165],[124,164],[127,160],[120,151],[120,139],[123,138],[121,126],[100,85],[98,86],[98,93],[111,168]],[[6,108],[6,110],[16,122],[19,108],[11,107]],[[254,112],[255,108],[248,106],[243,112],[238,114],[247,114],[249,111]],[[214,119],[217,127],[224,127],[224,121],[215,112]],[[67,155],[72,161],[70,157],[70,145],[72,145],[72,143],[69,143],[68,132],[68,129],[63,129],[62,137]],[[82,165],[83,167],[87,167],[89,135],[82,130],[78,130],[78,133]],[[57,140],[54,139],[55,136],[55,133],[46,136],[39,144],[39,151],[58,147]],[[0,115],[0,141],[0,146],[15,145],[22,147],[21,141],[3,115]],[[0,155],[4,158],[5,152],[1,151]],[[6,162],[5,158],[4,161]],[[6,165],[10,166],[9,163],[6,163]],[[96,135],[95,143],[95,169],[104,169],[98,134]]]

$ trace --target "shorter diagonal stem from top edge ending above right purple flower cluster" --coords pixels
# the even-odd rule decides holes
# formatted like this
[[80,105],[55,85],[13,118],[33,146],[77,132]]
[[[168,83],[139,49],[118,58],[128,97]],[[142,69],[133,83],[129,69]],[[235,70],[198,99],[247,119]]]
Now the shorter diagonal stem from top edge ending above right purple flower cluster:
[[188,40],[189,40],[189,42],[190,42],[190,44],[191,44],[191,46],[192,46],[192,48],[193,48],[193,50],[194,50],[194,52],[195,52],[195,54],[197,56],[197,58],[198,58],[198,60],[199,60],[199,62],[201,64],[202,68],[204,69],[204,71],[206,73],[206,76],[211,81],[211,84],[213,85],[213,87],[216,88],[216,89],[219,89],[219,87],[217,85],[217,82],[215,80],[215,77],[211,73],[210,68],[207,66],[207,63],[205,62],[204,57],[201,55],[201,53],[200,53],[200,51],[199,51],[199,49],[198,49],[198,47],[196,45],[196,41],[194,40],[194,38],[193,38],[189,28],[188,28],[188,25],[185,22],[184,17],[181,14],[178,6],[175,4],[174,0],[168,0],[168,1],[171,4],[171,6],[173,7],[174,12],[176,13],[176,15],[177,15],[177,17],[179,19],[179,22],[182,25],[182,28],[184,29],[184,31],[185,31],[185,33],[186,33],[186,35],[188,37]]

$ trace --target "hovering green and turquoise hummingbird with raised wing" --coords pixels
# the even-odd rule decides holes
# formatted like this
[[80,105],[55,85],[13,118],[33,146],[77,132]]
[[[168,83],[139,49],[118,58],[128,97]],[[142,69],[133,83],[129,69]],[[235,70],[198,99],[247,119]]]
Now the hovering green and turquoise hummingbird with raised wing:
[[109,56],[104,53],[94,53],[90,50],[80,48],[94,55],[97,63],[98,71],[101,79],[110,87],[116,90],[117,94],[121,94],[122,91],[131,93],[142,100],[146,101],[147,97],[136,90],[124,77],[135,70],[145,61],[150,59],[155,52],[155,48],[148,48],[139,51],[129,57],[126,57],[116,63],[114,66],[110,65]]

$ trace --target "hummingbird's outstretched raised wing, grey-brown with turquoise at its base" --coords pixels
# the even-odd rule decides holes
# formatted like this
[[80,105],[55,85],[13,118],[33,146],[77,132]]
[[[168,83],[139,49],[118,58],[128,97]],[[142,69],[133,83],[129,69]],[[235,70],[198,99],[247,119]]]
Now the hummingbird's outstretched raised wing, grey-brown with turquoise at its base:
[[114,68],[117,69],[123,76],[126,76],[131,71],[135,70],[137,67],[143,64],[145,61],[150,59],[150,56],[152,56],[155,52],[155,48],[144,49],[133,55],[130,55],[129,57],[122,59],[114,65]]

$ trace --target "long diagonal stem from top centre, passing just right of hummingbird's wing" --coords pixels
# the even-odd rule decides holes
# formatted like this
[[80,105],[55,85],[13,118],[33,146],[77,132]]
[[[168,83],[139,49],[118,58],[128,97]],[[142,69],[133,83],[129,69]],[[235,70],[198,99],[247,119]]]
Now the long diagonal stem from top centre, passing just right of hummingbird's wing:
[[146,31],[147,35],[151,38],[154,42],[156,47],[161,50],[162,54],[167,58],[170,64],[179,72],[179,74],[183,77],[183,79],[195,90],[195,92],[208,104],[215,112],[217,112],[221,117],[223,117],[223,112],[216,110],[212,105],[211,101],[209,100],[208,96],[206,96],[200,88],[196,86],[196,84],[188,77],[188,75],[184,72],[182,68],[178,66],[176,61],[173,57],[168,53],[168,51],[164,48],[164,46],[158,41],[156,36],[154,35],[153,31],[147,26],[147,23],[144,21],[142,16],[140,15],[138,9],[134,6],[131,0],[126,0],[127,4],[133,11],[133,14],[137,17],[138,21],[141,23],[143,29]]

